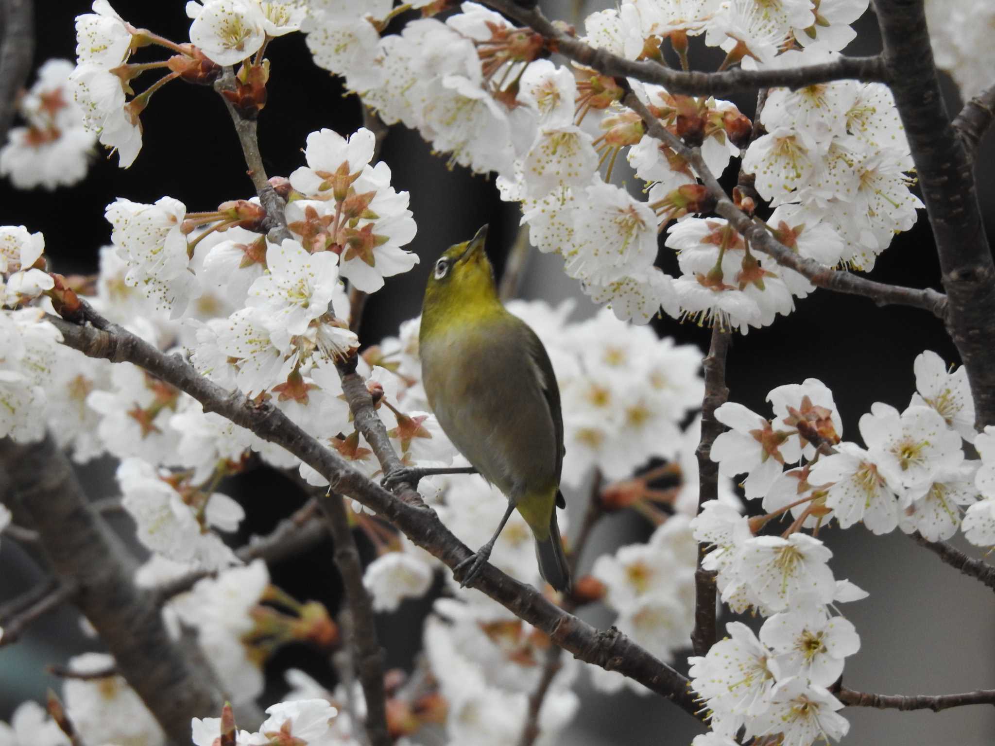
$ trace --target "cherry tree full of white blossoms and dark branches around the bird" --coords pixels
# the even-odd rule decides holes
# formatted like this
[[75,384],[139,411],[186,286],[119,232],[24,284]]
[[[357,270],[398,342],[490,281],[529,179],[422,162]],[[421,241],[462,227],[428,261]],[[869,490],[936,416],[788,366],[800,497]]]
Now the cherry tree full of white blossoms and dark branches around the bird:
[[[581,677],[604,698],[670,700],[703,723],[696,746],[835,742],[854,707],[995,704],[992,689],[858,691],[845,673],[861,653],[848,608],[874,599],[834,569],[837,530],[904,532],[995,589],[990,564],[947,543],[995,546],[995,267],[973,175],[995,116],[995,10],[876,0],[884,51],[848,55],[868,5],[623,0],[571,25],[527,1],[205,0],[186,4],[187,40],[95,0],[75,64],[50,60],[28,85],[32,5],[9,0],[0,173],[14,186],[76,183],[98,146],[126,169],[150,144],[153,94],[192,85],[224,102],[255,194],[141,203],[122,172],[92,277],[56,272],[46,226],[0,227],[0,532],[49,576],[0,607],[0,647],[69,604],[106,649],[60,666],[61,696],[23,703],[0,739],[527,746],[556,742]],[[257,126],[291,35],[364,126],[311,132],[271,176]],[[708,48],[724,59],[696,69]],[[953,117],[938,69],[967,100]],[[743,91],[755,110],[723,98]],[[460,585],[451,570],[503,498],[431,412],[419,319],[359,336],[367,297],[419,264],[410,245],[432,219],[379,159],[388,127],[516,203],[500,292],[560,388],[562,482],[586,499],[572,569],[606,514],[653,526],[587,558],[568,594],[541,582],[517,514]],[[943,292],[874,279],[919,221]],[[531,248],[600,308],[577,321],[571,302],[515,299]],[[907,406],[857,422],[814,377],[772,388],[762,412],[730,398],[730,340],[817,291],[939,319],[959,367],[922,351]],[[655,318],[709,329],[707,353],[658,337]],[[76,474],[100,456],[119,488],[104,507],[130,517],[140,564]],[[234,546],[252,508],[225,479],[255,469],[308,500]],[[326,536],[337,617],[270,574]],[[376,550],[365,566],[357,536]],[[374,615],[430,593],[414,670],[386,670]],[[594,604],[611,627],[576,616]],[[263,701],[263,665],[292,643],[332,660],[337,685],[291,670]]]

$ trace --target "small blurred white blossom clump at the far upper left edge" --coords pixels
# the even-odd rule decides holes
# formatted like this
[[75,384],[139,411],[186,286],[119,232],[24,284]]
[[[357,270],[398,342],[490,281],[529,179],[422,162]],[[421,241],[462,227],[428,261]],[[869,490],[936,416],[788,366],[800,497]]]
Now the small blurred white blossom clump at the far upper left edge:
[[49,60],[38,81],[18,101],[26,126],[12,127],[0,148],[0,175],[18,189],[55,189],[87,175],[96,137],[83,125],[73,100],[68,60]]

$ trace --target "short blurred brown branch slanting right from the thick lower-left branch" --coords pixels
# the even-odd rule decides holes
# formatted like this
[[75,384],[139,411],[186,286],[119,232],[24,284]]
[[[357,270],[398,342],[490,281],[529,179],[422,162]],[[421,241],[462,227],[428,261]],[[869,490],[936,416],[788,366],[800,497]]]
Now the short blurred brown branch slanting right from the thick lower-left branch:
[[[324,523],[315,520],[317,513],[317,500],[308,500],[292,515],[280,521],[269,534],[250,541],[236,551],[235,556],[245,563],[263,559],[267,564],[273,564],[312,549],[328,535]],[[195,570],[175,580],[162,583],[155,589],[159,604],[186,593],[198,581],[213,578],[217,574],[217,571],[213,570]]]

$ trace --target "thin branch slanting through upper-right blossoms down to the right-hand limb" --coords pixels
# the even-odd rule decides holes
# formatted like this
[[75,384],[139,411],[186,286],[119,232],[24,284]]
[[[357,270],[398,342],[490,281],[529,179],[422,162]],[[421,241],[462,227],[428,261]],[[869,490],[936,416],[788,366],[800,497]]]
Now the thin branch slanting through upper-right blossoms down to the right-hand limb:
[[800,275],[804,275],[812,284],[819,287],[852,295],[864,295],[874,300],[878,305],[892,303],[910,305],[927,310],[939,318],[945,317],[946,296],[933,289],[902,287],[901,285],[866,280],[795,254],[771,236],[762,223],[754,221],[732,203],[725,194],[725,190],[719,185],[718,180],[704,164],[698,148],[689,147],[679,137],[671,134],[635,93],[631,91],[626,93],[622,102],[643,118],[647,132],[651,136],[666,142],[692,165],[708,193],[717,201],[715,212],[728,220],[733,228],[745,236],[750,242],[750,247],[773,257],[782,267],[787,267]]

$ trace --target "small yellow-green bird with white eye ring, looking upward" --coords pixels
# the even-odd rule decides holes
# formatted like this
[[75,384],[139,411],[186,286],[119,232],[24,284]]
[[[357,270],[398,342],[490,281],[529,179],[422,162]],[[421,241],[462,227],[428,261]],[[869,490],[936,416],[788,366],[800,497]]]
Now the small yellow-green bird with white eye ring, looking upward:
[[542,342],[508,313],[497,297],[494,269],[484,253],[488,227],[436,262],[422,305],[419,347],[422,380],[432,411],[468,461],[504,496],[497,531],[473,557],[461,585],[491,556],[515,508],[535,537],[539,572],[558,591],[570,572],[555,505],[563,466],[559,388]]

